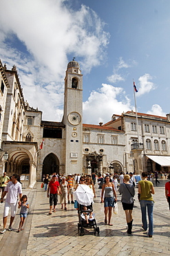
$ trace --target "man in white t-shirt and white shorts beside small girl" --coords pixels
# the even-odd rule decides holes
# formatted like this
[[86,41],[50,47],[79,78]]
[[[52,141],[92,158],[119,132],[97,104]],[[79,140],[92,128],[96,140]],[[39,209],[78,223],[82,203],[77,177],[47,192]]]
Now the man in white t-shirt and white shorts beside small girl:
[[14,217],[16,214],[18,194],[19,194],[19,199],[21,199],[22,197],[21,183],[17,181],[18,179],[19,179],[19,176],[17,174],[12,175],[12,181],[8,182],[8,185],[6,186],[6,189],[3,192],[3,195],[1,197],[1,203],[3,203],[3,198],[7,194],[6,202],[3,210],[3,230],[1,231],[1,234],[6,232],[6,223],[7,223],[7,217],[8,217],[10,208],[11,208],[11,217],[10,217],[10,226],[8,230],[12,231],[12,222],[14,221]]

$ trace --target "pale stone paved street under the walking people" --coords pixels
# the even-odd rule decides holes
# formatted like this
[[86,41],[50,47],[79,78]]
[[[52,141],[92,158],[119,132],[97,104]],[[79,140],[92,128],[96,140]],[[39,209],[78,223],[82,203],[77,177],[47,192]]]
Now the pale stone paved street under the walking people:
[[[170,218],[168,203],[164,196],[165,180],[155,188],[154,196],[154,235],[147,237],[141,229],[140,205],[136,195],[136,207],[133,211],[133,235],[127,236],[125,212],[118,195],[118,214],[112,215],[113,226],[104,223],[103,203],[100,203],[100,190],[94,203],[94,212],[100,235],[94,236],[93,230],[85,230],[83,237],[78,235],[77,212],[74,205],[68,205],[68,210],[61,210],[57,205],[56,212],[48,215],[49,203],[47,193],[41,189],[41,183],[36,183],[32,190],[24,189],[28,194],[30,213],[25,221],[23,231],[17,233],[19,226],[19,211],[14,220],[12,232],[0,235],[1,255],[170,255]],[[137,194],[137,193],[136,193]],[[4,204],[0,205],[2,227],[2,212]],[[9,219],[8,219],[9,221]]]

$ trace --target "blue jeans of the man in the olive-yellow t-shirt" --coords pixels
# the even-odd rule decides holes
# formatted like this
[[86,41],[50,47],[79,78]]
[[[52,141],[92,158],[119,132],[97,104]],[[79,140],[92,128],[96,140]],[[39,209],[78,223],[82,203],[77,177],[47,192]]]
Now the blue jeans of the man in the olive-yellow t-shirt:
[[140,200],[140,208],[142,212],[142,226],[147,230],[147,214],[149,219],[148,235],[153,235],[153,201]]

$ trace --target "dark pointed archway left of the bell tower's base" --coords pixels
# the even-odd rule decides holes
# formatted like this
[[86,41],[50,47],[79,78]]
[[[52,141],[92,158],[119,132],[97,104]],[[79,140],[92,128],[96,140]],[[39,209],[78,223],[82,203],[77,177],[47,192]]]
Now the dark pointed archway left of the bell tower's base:
[[54,172],[59,174],[59,158],[53,153],[50,153],[44,158],[42,177],[45,174],[53,174]]

